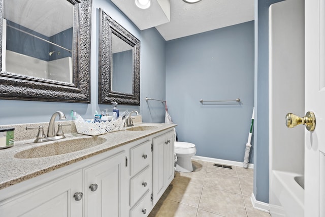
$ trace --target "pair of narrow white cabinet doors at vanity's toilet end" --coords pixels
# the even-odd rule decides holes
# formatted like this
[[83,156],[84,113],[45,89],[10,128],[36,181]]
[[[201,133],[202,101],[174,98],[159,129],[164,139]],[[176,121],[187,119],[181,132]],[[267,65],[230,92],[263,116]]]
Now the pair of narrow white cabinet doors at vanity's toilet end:
[[171,130],[152,139],[153,205],[157,203],[174,178],[174,135],[174,130]]

